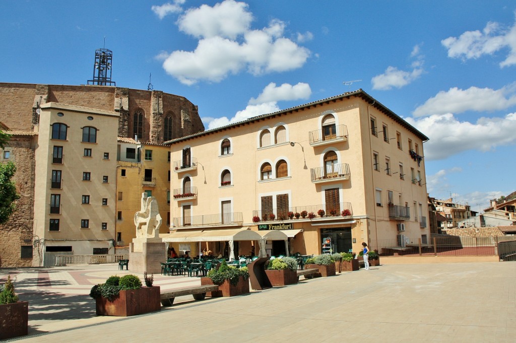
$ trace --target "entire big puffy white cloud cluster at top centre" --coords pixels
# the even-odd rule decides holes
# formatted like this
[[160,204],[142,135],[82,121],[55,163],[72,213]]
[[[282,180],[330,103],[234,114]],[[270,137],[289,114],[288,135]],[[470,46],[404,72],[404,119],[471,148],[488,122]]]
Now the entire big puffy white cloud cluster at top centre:
[[310,51],[283,37],[284,22],[275,19],[261,30],[250,30],[251,21],[248,5],[233,0],[187,10],[178,24],[199,38],[198,45],[194,51],[172,52],[163,68],[181,83],[193,85],[200,80],[220,82],[243,70],[252,75],[294,70],[307,61]]

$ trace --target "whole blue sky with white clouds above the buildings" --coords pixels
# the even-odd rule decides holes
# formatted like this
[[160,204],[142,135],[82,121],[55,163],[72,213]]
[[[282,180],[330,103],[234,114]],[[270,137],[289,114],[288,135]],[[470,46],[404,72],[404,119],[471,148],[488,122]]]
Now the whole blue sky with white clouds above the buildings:
[[[206,128],[364,89],[425,143],[427,187],[473,209],[516,190],[513,1],[0,2],[2,82],[185,96]],[[354,82],[347,82],[354,81]]]

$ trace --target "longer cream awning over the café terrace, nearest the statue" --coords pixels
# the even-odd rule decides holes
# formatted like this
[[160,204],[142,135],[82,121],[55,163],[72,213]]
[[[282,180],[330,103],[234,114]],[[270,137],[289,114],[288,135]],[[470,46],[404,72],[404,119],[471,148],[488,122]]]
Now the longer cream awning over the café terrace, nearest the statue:
[[164,242],[218,242],[218,241],[240,241],[260,240],[262,238],[256,231],[249,228],[231,229],[207,229],[195,231],[175,231],[169,234],[160,234]]

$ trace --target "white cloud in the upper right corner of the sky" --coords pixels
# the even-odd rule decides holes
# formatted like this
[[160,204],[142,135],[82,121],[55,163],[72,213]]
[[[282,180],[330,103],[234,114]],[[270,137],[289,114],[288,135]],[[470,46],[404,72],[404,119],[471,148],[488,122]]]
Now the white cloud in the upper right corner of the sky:
[[506,59],[499,64],[502,68],[512,66],[516,64],[516,22],[508,29],[498,23],[489,22],[482,32],[466,31],[459,38],[443,39],[441,44],[448,49],[448,57],[462,60],[494,55],[508,48]]

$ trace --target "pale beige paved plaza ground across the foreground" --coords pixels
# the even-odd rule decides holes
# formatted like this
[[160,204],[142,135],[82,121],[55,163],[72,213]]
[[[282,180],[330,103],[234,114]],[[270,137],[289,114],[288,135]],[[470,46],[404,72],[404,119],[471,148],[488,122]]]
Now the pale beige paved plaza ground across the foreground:
[[[118,265],[3,269],[29,301],[26,342],[516,342],[516,263],[382,265],[247,296],[95,315],[92,285]],[[139,275],[139,274],[137,274]],[[142,277],[142,275],[139,275]],[[164,289],[196,277],[154,275]],[[8,340],[9,341],[9,340]]]

